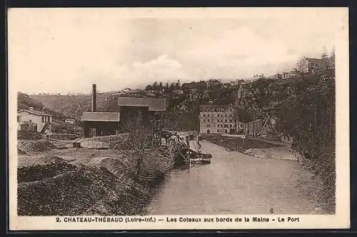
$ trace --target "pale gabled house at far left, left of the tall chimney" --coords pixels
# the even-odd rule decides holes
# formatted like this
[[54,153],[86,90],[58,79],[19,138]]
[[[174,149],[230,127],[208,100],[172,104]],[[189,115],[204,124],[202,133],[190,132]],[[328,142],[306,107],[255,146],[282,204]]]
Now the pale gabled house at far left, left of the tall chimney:
[[46,114],[44,109],[34,111],[34,107],[30,107],[29,110],[21,109],[17,111],[17,130],[44,133],[49,128],[51,121],[51,114]]

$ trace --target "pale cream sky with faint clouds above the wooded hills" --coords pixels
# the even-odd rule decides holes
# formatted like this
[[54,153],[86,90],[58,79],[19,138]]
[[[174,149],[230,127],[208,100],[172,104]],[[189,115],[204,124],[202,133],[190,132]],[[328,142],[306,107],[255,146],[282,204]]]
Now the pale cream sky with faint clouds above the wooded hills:
[[154,81],[250,79],[331,51],[338,9],[10,9],[9,81],[17,91],[90,93]]

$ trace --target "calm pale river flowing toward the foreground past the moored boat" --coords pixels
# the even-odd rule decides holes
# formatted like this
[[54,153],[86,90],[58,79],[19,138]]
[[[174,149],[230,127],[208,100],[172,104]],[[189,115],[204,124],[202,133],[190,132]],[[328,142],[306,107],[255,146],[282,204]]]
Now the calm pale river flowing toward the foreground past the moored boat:
[[208,141],[211,164],[175,169],[156,186],[148,215],[321,214],[317,178],[297,161],[255,158]]

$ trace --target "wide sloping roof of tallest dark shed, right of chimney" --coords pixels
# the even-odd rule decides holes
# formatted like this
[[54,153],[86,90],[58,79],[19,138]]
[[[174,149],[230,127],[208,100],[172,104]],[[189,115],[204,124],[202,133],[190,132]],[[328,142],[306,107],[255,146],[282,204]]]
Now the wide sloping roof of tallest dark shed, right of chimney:
[[166,111],[166,99],[119,97],[118,105],[149,107],[149,111]]

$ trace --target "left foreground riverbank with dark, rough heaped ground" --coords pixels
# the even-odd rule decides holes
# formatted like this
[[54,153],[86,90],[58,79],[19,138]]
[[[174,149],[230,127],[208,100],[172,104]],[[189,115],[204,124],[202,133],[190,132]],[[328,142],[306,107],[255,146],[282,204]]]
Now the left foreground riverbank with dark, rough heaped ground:
[[69,148],[61,141],[36,151],[35,143],[18,158],[19,216],[143,215],[149,191],[175,161],[161,148]]

